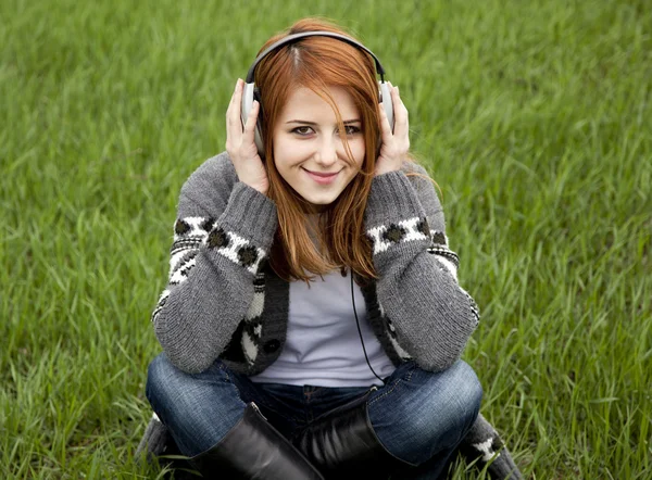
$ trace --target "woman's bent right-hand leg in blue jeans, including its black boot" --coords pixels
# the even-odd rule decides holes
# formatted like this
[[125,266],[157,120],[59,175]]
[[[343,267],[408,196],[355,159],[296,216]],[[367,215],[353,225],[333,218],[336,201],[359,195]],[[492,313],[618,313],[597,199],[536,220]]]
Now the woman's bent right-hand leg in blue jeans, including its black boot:
[[437,478],[473,425],[481,395],[464,362],[437,374],[406,363],[383,388],[316,418],[293,443],[327,478]]

